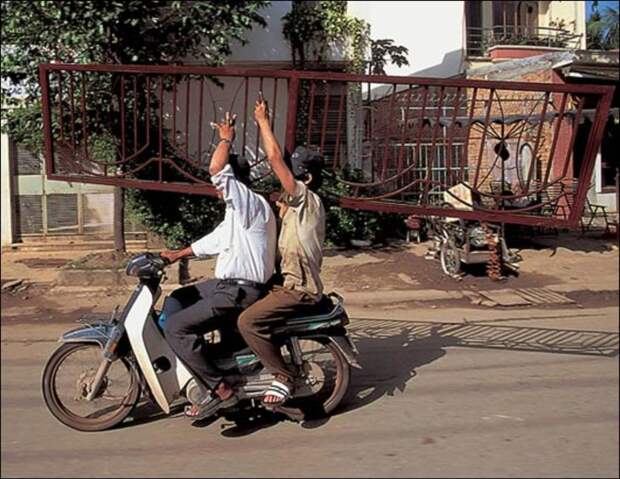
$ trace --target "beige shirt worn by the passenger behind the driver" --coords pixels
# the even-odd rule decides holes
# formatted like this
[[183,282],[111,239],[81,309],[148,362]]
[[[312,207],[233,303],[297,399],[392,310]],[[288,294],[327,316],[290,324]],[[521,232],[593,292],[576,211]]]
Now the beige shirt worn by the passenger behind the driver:
[[284,287],[318,299],[323,294],[321,264],[325,240],[325,210],[321,198],[301,181],[295,194],[284,194],[288,206],[282,218],[278,248],[282,257]]

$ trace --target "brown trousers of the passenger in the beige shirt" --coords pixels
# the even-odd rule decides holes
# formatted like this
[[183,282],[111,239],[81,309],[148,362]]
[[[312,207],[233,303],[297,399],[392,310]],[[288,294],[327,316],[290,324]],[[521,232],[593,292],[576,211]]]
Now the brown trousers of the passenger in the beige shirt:
[[245,342],[267,370],[288,383],[293,382],[294,372],[282,359],[280,346],[274,344],[271,330],[294,315],[312,314],[316,306],[316,299],[309,294],[276,286],[239,316],[237,325]]

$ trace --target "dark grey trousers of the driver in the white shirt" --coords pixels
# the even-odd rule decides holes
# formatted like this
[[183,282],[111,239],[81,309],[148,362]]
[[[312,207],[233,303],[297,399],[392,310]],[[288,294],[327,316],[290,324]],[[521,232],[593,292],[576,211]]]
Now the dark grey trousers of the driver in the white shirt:
[[[164,304],[164,312],[169,315],[164,323],[168,344],[210,389],[217,387],[222,374],[206,359],[203,334],[217,327],[214,327],[216,320],[230,317],[230,321],[234,321],[239,311],[254,303],[260,295],[257,288],[211,279],[174,291],[169,302],[172,307]],[[183,309],[172,312],[178,309],[177,304]]]

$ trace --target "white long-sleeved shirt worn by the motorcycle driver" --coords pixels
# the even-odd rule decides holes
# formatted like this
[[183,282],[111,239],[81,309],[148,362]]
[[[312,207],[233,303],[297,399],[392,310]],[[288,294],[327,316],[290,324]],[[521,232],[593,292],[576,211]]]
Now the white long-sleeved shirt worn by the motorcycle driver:
[[218,279],[266,283],[274,272],[276,255],[276,219],[269,203],[238,181],[230,165],[211,181],[224,194],[224,221],[192,243],[192,251],[196,256],[218,255]]

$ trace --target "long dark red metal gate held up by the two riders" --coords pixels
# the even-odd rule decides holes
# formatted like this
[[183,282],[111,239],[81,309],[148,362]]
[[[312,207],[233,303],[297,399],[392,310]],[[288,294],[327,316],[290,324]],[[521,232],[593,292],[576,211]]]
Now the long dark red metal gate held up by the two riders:
[[[252,119],[262,91],[287,154],[298,144],[320,149],[345,207],[556,227],[579,223],[613,94],[600,85],[152,65],[44,64],[40,84],[49,178],[213,195],[208,125],[227,110],[239,116],[235,148],[253,157],[256,179],[268,176]],[[574,178],[586,108],[594,122]]]

